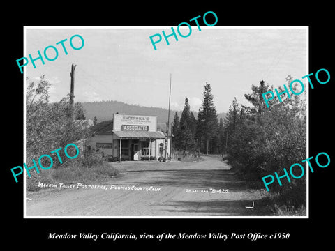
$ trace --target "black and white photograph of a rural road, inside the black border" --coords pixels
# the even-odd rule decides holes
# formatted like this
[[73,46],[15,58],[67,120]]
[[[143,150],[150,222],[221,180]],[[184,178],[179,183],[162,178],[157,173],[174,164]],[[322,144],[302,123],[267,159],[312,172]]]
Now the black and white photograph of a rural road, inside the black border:
[[307,38],[25,27],[25,216],[306,218]]

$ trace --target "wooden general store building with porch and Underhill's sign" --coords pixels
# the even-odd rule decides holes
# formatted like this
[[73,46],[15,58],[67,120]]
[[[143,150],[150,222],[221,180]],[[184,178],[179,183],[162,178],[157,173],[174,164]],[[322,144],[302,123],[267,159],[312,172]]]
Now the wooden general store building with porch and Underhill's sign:
[[[170,156],[171,139],[156,116],[113,114],[113,119],[91,127],[91,147],[113,161],[163,160]],[[170,135],[170,134],[169,134]],[[167,144],[165,148],[165,144]]]

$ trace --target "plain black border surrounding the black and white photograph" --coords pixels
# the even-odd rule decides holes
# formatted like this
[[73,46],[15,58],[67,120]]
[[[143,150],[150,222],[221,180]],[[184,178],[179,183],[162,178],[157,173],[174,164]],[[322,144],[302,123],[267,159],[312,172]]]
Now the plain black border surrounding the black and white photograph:
[[[332,179],[334,177],[334,151],[331,148],[334,85],[334,29],[331,24],[334,14],[327,3],[313,2],[306,5],[292,6],[290,3],[269,2],[228,3],[204,6],[203,3],[189,4],[181,8],[180,4],[171,2],[140,3],[127,6],[114,3],[24,3],[19,6],[6,7],[8,16],[1,17],[3,24],[2,52],[5,59],[1,63],[3,73],[3,136],[2,137],[2,195],[4,231],[3,241],[18,247],[20,243],[31,248],[70,247],[93,248],[95,245],[107,245],[113,249],[131,244],[163,247],[205,243],[218,245],[217,248],[246,245],[264,245],[265,248],[308,247],[315,243],[327,246],[332,238],[332,212],[334,211]],[[193,17],[214,11],[218,16],[216,26],[309,26],[309,73],[316,73],[326,68],[331,79],[327,84],[318,84],[314,79],[314,89],[309,90],[309,156],[326,152],[331,156],[327,168],[315,167],[309,180],[309,219],[24,219],[23,218],[23,180],[15,183],[10,168],[22,165],[23,161],[23,75],[17,68],[16,59],[23,56],[23,26],[177,26]],[[333,15],[333,16],[332,16]],[[209,22],[211,23],[211,22]],[[201,25],[201,24],[200,24]],[[149,39],[149,38],[148,38]],[[191,39],[191,38],[188,38]],[[301,39],[304,39],[301,37]],[[182,69],[181,69],[182,70]],[[301,76],[302,77],[302,76]],[[252,83],[251,83],[252,84]],[[283,83],[285,84],[285,83]],[[332,102],[333,101],[333,102]],[[156,240],[111,241],[111,240],[48,240],[50,232],[57,234],[78,234],[79,232],[119,232],[120,234],[161,234],[171,232],[178,234],[248,234],[260,232],[290,233],[288,240],[250,241],[250,240]],[[4,243],[3,243],[4,244]],[[24,246],[22,247],[24,248]]]

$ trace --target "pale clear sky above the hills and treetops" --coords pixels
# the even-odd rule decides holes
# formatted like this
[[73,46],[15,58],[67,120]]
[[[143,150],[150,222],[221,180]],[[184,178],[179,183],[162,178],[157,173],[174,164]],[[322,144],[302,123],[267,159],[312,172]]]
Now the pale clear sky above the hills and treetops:
[[[181,26],[187,34],[188,27]],[[177,27],[174,27],[177,33]],[[24,74],[31,81],[41,75],[52,84],[50,101],[57,102],[70,92],[70,68],[75,68],[75,102],[117,100],[133,105],[168,108],[170,75],[171,109],[182,110],[188,98],[191,110],[198,111],[206,82],[211,84],[217,112],[228,112],[234,97],[249,105],[244,94],[251,85],[265,80],[274,86],[287,84],[285,78],[301,79],[308,74],[308,40],[306,27],[225,27],[192,26],[191,35],[182,38],[172,33],[171,26],[143,27],[33,27],[26,26],[24,55],[43,55],[45,47],[53,45],[58,57],[45,64],[29,61]],[[150,36],[162,36],[157,50]],[[69,40],[73,35],[84,39],[80,50],[73,50]],[[68,54],[64,53],[61,40]],[[156,38],[154,38],[156,39]],[[73,45],[80,47],[78,37]],[[55,56],[47,50],[50,58]],[[19,69],[18,69],[19,70]],[[305,79],[304,79],[304,81]]]

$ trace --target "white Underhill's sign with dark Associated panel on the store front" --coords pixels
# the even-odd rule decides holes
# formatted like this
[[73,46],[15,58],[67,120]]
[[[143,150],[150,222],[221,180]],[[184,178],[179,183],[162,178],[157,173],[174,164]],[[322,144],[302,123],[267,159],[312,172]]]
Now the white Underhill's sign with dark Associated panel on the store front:
[[156,116],[114,114],[113,119],[114,131],[156,132],[157,130]]

